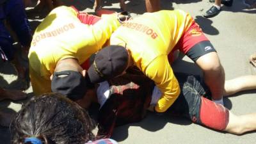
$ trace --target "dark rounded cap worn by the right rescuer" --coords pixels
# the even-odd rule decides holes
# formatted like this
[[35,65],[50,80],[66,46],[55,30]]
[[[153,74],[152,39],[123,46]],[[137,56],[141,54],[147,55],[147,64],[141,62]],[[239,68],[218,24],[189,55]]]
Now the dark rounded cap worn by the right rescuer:
[[109,45],[103,48],[97,52],[88,70],[90,81],[92,83],[100,83],[122,74],[127,68],[128,59],[128,52],[123,46]]

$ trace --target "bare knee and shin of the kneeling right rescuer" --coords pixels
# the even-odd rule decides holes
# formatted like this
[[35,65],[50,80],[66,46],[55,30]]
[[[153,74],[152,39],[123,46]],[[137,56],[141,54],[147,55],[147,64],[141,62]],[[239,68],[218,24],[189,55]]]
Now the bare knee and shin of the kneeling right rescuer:
[[222,99],[225,72],[221,66],[217,52],[209,52],[196,60],[196,64],[204,71],[204,81],[212,93],[213,100]]

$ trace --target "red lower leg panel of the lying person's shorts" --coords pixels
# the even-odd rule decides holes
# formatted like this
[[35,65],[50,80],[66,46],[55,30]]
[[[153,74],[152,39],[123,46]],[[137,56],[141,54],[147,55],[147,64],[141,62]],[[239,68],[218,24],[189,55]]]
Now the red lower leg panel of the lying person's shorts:
[[216,104],[205,97],[201,97],[200,120],[202,124],[212,129],[223,131],[228,124],[228,109]]

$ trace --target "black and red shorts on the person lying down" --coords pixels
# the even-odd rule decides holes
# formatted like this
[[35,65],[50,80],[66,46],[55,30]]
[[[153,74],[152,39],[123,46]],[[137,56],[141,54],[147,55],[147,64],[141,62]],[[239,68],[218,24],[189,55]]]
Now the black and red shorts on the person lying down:
[[168,110],[189,118],[196,124],[223,131],[228,124],[228,109],[214,103],[211,92],[200,77],[175,74],[180,84],[180,95]]

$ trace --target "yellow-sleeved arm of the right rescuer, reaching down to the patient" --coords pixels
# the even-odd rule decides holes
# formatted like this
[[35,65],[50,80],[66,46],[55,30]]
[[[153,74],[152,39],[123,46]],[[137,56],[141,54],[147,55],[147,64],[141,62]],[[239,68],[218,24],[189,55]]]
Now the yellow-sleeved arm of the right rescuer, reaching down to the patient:
[[167,56],[159,56],[152,61],[145,73],[163,93],[157,102],[155,110],[157,112],[166,111],[180,94],[179,83],[173,74]]

